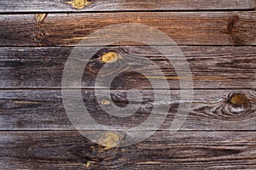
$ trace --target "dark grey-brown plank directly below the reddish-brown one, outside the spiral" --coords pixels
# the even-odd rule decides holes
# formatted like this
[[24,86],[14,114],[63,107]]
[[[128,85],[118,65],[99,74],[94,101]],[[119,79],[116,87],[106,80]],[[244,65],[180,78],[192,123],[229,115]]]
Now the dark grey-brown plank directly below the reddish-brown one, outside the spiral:
[[[194,88],[256,88],[256,47],[182,46],[180,48],[192,71]],[[0,88],[61,88],[64,65],[72,49],[69,47],[0,48]],[[166,77],[161,77],[160,71],[148,65],[145,68],[142,64],[144,71],[151,74],[149,79],[138,76],[135,72],[125,73],[113,81],[113,88],[152,88],[148,80],[166,78],[169,87],[177,89],[180,87],[179,80],[186,78],[177,77],[166,57],[154,48],[123,46],[102,48],[100,51],[96,51],[96,48],[86,49],[89,52],[95,51],[96,55],[92,57],[84,71],[82,88],[106,88],[97,87],[94,82],[96,77],[102,77],[98,76],[98,71],[103,65],[101,57],[109,51],[124,56],[123,58],[129,64],[125,69],[132,68],[132,65],[139,65],[140,59],[145,58],[159,65],[166,75]],[[126,56],[127,54],[130,56]],[[85,63],[85,61],[86,59],[82,59],[79,63]],[[114,71],[121,67],[119,60],[109,65],[114,66],[112,69]],[[79,66],[75,65],[75,68],[79,69]],[[154,87],[164,88],[160,82],[152,83]],[[77,87],[76,84],[79,82],[70,81],[71,87]]]

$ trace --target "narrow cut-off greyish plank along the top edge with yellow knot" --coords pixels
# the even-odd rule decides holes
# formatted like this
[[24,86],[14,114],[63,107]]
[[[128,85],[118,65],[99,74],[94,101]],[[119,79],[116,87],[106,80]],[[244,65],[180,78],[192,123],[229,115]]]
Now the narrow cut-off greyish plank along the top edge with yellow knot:
[[[73,2],[73,3],[67,3]],[[172,10],[218,10],[253,9],[254,0],[2,0],[1,13],[16,12],[77,12],[77,11],[172,11]]]

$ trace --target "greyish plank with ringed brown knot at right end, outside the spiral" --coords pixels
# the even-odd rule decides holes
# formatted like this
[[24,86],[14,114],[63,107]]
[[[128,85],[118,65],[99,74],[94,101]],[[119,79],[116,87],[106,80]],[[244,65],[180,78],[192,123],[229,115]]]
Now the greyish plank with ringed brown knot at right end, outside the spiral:
[[[73,92],[72,90],[70,92]],[[98,90],[100,94],[105,90]],[[166,113],[165,105],[170,106],[161,130],[169,130],[177,115],[179,104],[189,104],[189,98],[180,100],[179,90],[171,90],[171,99],[166,91],[141,90],[139,97],[130,99],[130,108],[135,114],[126,117],[111,116],[102,110],[113,110],[113,105],[128,105],[127,91],[113,90],[108,95],[99,96],[94,90],[83,90],[85,108],[96,122],[108,125],[114,130],[137,127],[151,114],[153,105],[162,108],[157,115]],[[157,94],[157,95],[156,95]],[[74,97],[79,99],[77,94]],[[99,97],[97,102],[96,96]],[[157,97],[154,97],[157,96]],[[142,103],[141,106],[137,107]],[[69,108],[73,107],[70,105]],[[138,108],[138,109],[135,109]],[[75,112],[73,112],[75,111]],[[76,114],[76,110],[69,116]],[[115,110],[116,111],[116,110]],[[131,111],[131,110],[129,110]],[[255,130],[256,127],[255,90],[195,90],[189,116],[183,130]],[[85,125],[84,125],[85,126]],[[81,127],[95,129],[94,127]],[[63,107],[61,90],[1,90],[0,91],[0,130],[70,130],[74,129]]]

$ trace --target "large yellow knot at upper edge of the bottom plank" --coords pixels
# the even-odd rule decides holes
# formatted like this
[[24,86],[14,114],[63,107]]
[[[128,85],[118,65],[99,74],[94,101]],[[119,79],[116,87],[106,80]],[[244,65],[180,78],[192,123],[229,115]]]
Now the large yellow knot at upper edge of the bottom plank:
[[104,146],[103,150],[109,150],[119,144],[119,135],[113,132],[103,133],[100,139],[98,139],[98,144]]

